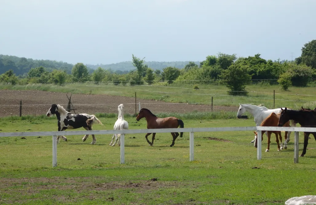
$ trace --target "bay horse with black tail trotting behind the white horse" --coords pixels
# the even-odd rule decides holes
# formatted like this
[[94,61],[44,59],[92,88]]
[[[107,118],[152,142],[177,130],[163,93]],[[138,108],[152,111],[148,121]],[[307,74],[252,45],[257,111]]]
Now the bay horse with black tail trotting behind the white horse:
[[[147,121],[147,129],[178,128],[179,126],[180,128],[184,128],[184,124],[182,120],[176,117],[159,118],[156,115],[152,114],[152,112],[150,112],[150,110],[146,108],[142,108],[139,111],[136,117],[136,120],[139,121],[143,117]],[[156,133],[153,133],[153,138],[151,142],[149,142],[147,138],[150,134],[151,133],[147,133],[145,137],[146,137],[147,142],[149,143],[149,146],[153,146]],[[174,145],[174,141],[179,136],[179,132],[171,132],[171,135],[173,137],[173,140],[170,147]],[[183,135],[183,132],[180,132],[180,138],[182,138],[182,135]]]

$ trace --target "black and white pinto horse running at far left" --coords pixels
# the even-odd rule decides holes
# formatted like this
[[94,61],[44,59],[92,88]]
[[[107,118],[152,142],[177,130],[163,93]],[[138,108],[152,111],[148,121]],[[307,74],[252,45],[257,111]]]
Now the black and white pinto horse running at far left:
[[[71,114],[67,110],[63,108],[63,106],[58,104],[52,104],[52,107],[47,112],[47,117],[56,114],[58,119],[58,131],[64,131],[66,129],[77,129],[83,127],[86,130],[92,130],[93,124],[100,124],[102,125],[101,121],[96,118],[94,115],[89,114]],[[59,137],[64,139],[67,142],[67,138],[64,136],[57,136],[57,143],[59,143]],[[82,141],[86,141],[89,135],[85,135],[82,138]],[[96,143],[96,138],[92,135],[92,142],[91,144]]]

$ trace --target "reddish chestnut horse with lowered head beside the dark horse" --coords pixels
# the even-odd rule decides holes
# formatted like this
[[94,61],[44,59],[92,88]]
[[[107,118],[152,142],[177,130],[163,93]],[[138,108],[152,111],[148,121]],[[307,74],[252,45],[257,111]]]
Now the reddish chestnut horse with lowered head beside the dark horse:
[[[280,114],[275,114],[275,113],[271,113],[266,119],[264,119],[262,121],[262,123],[260,124],[260,126],[263,126],[263,127],[277,127],[278,126],[278,122],[279,122],[279,118],[280,118]],[[289,127],[290,126],[290,123],[289,121],[287,121],[283,127]],[[270,149],[270,137],[271,137],[271,134],[274,133],[276,135],[276,143],[277,143],[277,150],[280,151],[281,149],[283,149],[283,145],[282,145],[282,136],[281,136],[281,131],[261,131],[261,141],[263,140],[263,134],[264,132],[267,132],[268,133],[268,147],[267,149],[265,150],[266,152],[269,152],[269,149]],[[257,148],[257,143],[258,143],[258,133],[257,132],[254,132],[255,133],[255,143],[254,143],[254,146],[255,148]],[[277,136],[279,135],[279,138],[280,138],[280,141],[281,141],[281,148],[280,148],[280,144],[279,144],[279,139],[277,138]],[[287,143],[286,143],[286,139],[288,138],[288,131],[285,131],[285,142],[284,142],[284,149],[287,149]]]

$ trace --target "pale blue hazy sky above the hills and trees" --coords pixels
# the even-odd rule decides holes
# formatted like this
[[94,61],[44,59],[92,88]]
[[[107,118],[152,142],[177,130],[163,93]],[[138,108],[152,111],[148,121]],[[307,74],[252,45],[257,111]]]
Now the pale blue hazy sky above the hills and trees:
[[69,63],[293,59],[316,0],[0,0],[0,54]]

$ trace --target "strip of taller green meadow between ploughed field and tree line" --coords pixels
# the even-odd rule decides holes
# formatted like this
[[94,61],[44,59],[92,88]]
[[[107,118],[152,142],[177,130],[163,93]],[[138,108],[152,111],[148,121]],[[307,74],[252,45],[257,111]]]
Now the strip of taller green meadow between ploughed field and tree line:
[[[58,85],[0,85],[1,89],[11,90],[40,90],[40,91],[54,91],[66,93],[84,93],[84,94],[101,94],[114,96],[127,96],[149,100],[163,100],[170,103],[213,103],[217,106],[238,106],[238,103],[252,103],[255,105],[264,104],[268,108],[273,108],[273,91],[275,90],[275,107],[289,107],[298,109],[301,106],[314,108],[316,107],[314,95],[316,84],[309,84],[308,87],[290,87],[289,91],[281,90],[279,85],[258,84],[248,85],[246,90],[249,91],[247,97],[231,97],[227,94],[227,87],[224,85],[198,85],[199,89],[193,89],[194,85],[160,85],[154,86],[129,86],[129,85],[111,85],[101,84],[95,85],[90,83],[85,84],[66,84]],[[292,95],[288,95],[292,94]],[[299,94],[299,95],[297,95]]]

